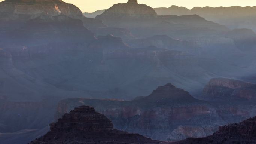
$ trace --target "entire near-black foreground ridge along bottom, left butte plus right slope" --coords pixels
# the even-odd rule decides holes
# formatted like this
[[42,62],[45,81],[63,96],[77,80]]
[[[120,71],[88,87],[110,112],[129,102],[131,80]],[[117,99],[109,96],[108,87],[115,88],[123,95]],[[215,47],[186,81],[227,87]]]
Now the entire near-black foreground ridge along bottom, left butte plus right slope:
[[[113,123],[93,107],[76,107],[65,114],[51,131],[30,144],[167,144],[139,134],[113,129]],[[221,126],[205,138],[188,138],[169,144],[256,144],[256,117]]]

